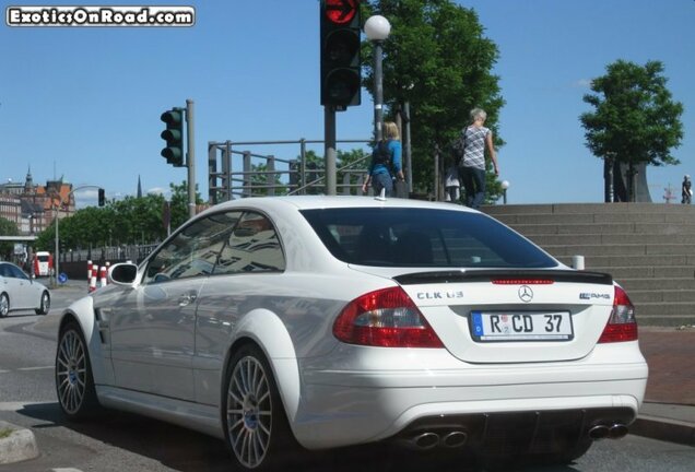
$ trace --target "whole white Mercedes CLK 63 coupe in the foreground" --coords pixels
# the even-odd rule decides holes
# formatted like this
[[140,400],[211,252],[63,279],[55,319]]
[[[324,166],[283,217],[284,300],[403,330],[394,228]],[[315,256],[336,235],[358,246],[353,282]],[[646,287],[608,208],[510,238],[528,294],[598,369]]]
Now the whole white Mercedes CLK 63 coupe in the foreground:
[[243,199],[68,308],[69,418],[127,410],[223,438],[242,470],[376,441],[570,461],[637,415],[626,293],[476,211]]

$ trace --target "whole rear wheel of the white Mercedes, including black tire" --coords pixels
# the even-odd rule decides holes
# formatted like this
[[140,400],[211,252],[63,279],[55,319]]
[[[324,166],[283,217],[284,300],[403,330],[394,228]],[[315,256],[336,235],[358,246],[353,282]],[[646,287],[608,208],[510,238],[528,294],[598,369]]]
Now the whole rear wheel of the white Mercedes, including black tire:
[[256,345],[229,361],[222,397],[224,436],[240,470],[288,470],[302,448],[287,423],[272,369]]

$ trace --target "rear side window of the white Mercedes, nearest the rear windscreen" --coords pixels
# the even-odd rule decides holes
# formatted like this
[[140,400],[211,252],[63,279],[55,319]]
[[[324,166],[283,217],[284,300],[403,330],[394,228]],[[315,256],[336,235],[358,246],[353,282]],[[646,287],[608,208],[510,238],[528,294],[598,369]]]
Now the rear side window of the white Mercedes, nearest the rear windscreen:
[[285,270],[285,257],[273,224],[259,213],[244,213],[237,226],[228,235],[214,273],[281,272],[283,270]]

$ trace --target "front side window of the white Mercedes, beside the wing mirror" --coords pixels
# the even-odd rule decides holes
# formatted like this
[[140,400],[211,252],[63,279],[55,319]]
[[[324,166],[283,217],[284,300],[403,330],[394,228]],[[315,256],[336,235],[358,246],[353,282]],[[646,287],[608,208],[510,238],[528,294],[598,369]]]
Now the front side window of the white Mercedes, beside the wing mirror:
[[185,227],[150,260],[143,283],[210,275],[240,214],[217,213]]

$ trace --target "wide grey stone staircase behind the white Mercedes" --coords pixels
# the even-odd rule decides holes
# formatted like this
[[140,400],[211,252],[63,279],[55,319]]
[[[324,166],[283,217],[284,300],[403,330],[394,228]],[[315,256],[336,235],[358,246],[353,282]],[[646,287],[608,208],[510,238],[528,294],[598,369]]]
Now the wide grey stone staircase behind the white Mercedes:
[[485,213],[567,266],[608,272],[641,324],[695,324],[695,206],[659,203],[487,205]]

